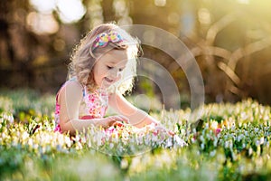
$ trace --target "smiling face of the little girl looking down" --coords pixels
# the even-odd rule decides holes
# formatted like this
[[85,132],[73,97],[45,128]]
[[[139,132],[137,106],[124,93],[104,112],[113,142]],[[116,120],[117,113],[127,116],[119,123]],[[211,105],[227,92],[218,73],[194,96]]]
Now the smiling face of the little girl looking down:
[[126,68],[128,57],[126,50],[110,50],[99,55],[93,67],[94,81],[100,88],[108,88],[119,81],[122,71]]

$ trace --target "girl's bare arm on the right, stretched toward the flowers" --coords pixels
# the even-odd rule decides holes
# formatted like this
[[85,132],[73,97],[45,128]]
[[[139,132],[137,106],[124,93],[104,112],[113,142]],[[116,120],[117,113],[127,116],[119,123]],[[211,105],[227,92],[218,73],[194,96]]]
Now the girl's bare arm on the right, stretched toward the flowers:
[[143,128],[152,123],[159,124],[156,119],[149,116],[145,111],[135,108],[119,93],[113,93],[109,96],[109,105],[118,113],[126,116],[130,123],[137,128]]

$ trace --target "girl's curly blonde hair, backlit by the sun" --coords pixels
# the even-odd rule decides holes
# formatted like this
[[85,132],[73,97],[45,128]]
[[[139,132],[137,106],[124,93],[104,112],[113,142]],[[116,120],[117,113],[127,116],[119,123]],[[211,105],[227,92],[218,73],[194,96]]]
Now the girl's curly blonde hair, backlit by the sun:
[[[119,33],[125,41],[118,43],[109,42],[106,47],[94,49],[93,43],[95,43],[98,34],[108,33],[110,31]],[[136,76],[136,59],[142,54],[142,49],[138,39],[126,33],[125,30],[116,24],[98,25],[73,49],[69,65],[69,78],[76,77],[79,83],[83,86],[87,86],[89,90],[97,89],[98,87],[93,77],[94,64],[98,59],[98,54],[103,54],[113,49],[127,51],[128,60],[126,68],[123,71],[122,80],[111,85],[108,91],[113,92],[118,90],[122,94],[130,92],[134,86],[134,78]]]

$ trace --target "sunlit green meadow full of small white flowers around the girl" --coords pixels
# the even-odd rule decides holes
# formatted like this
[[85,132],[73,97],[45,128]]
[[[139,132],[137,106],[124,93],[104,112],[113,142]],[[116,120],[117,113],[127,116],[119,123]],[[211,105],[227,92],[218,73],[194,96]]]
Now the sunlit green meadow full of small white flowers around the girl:
[[54,96],[1,90],[1,180],[270,180],[269,106],[212,103],[152,114],[174,137],[134,128],[54,132]]

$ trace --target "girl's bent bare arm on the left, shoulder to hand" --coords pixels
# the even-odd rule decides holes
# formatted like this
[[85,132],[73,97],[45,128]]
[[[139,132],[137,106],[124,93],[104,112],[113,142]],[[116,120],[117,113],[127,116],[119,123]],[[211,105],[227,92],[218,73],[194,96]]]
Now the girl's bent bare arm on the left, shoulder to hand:
[[102,119],[79,119],[79,105],[82,99],[82,87],[77,81],[68,81],[60,90],[59,101],[60,110],[60,126],[63,132],[74,134],[76,130],[82,131],[89,126],[101,126],[107,128],[117,120],[126,119],[120,116],[112,116]]

